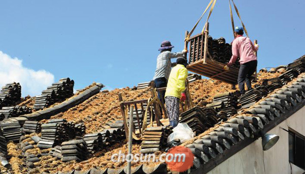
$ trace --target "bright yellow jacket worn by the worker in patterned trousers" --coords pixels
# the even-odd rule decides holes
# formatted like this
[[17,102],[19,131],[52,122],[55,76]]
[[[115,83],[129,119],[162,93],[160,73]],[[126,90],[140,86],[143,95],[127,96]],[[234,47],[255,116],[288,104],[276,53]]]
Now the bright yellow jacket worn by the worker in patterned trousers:
[[172,96],[180,99],[181,93],[186,89],[187,77],[188,70],[183,65],[177,64],[172,68],[167,82],[165,97]]

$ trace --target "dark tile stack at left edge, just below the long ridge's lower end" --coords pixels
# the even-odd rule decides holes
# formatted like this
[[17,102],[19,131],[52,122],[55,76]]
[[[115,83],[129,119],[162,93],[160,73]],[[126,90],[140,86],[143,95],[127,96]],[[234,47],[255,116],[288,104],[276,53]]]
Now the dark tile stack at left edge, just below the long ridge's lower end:
[[7,141],[19,142],[21,131],[19,122],[0,124],[0,135],[5,137]]

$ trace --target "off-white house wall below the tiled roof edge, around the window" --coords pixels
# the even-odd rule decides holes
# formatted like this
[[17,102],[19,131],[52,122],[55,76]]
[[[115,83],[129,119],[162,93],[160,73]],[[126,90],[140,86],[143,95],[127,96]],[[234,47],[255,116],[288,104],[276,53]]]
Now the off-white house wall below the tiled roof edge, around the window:
[[[305,135],[305,106],[291,115],[286,121],[271,129],[268,133],[280,136],[279,141],[268,151],[263,151],[261,138],[254,141],[248,147],[242,149],[216,168],[209,174],[289,174],[289,152],[288,152],[288,126],[298,133]],[[263,158],[264,156],[264,158]],[[264,159],[264,163],[263,163]],[[265,168],[264,168],[265,164]],[[293,174],[302,174],[303,169],[292,164]]]

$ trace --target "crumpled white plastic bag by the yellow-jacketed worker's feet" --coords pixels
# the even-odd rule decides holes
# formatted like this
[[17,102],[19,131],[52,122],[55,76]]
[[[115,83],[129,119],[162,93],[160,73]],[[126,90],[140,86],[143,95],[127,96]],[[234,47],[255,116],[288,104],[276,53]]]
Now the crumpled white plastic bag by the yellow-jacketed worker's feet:
[[173,133],[167,137],[167,142],[174,139],[180,139],[180,142],[182,143],[192,138],[194,138],[194,132],[189,125],[186,123],[178,123],[178,125],[173,129]]

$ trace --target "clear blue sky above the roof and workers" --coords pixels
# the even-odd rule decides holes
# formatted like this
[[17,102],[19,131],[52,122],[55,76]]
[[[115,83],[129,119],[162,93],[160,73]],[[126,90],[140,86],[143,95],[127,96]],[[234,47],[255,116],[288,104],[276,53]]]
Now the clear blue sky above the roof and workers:
[[[134,86],[153,78],[163,40],[171,41],[173,51],[183,49],[185,31],[192,29],[208,2],[2,1],[0,50],[22,60],[25,70],[41,70],[50,78],[44,83],[33,80],[32,85],[40,85],[38,92],[23,91],[31,95],[62,77],[74,79],[75,89],[93,81],[108,89]],[[234,2],[250,38],[259,42],[259,69],[285,65],[305,54],[305,1]],[[194,34],[201,32],[205,20],[206,15]],[[209,22],[213,38],[233,40],[228,1],[217,2]],[[32,73],[27,81],[36,76]],[[4,77],[0,83],[11,79]]]

